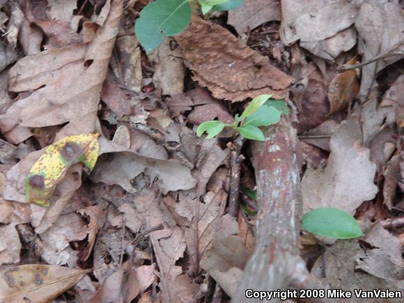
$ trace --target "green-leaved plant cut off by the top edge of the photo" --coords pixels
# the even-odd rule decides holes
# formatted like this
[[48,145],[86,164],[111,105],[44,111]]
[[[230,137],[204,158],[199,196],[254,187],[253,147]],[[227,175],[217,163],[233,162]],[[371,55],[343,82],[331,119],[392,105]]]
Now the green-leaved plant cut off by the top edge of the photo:
[[210,11],[234,10],[244,0],[156,0],[143,8],[134,32],[146,53],[160,45],[164,37],[185,31],[191,22],[191,6],[199,6],[203,14]]

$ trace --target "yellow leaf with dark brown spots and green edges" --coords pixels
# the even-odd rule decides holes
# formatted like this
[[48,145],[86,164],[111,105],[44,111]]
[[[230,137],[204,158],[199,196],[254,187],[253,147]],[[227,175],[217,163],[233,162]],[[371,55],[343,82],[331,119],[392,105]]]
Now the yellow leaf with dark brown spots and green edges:
[[93,170],[98,158],[99,134],[65,137],[47,148],[26,176],[25,201],[49,206],[56,185],[73,164],[82,162]]

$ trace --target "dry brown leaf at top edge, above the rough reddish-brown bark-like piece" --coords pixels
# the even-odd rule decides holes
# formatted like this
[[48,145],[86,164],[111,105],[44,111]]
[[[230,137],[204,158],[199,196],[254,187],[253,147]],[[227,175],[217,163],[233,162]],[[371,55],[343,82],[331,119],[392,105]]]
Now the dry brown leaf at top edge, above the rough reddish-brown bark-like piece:
[[258,25],[281,20],[280,0],[245,0],[242,7],[228,11],[227,23],[233,25],[239,35]]

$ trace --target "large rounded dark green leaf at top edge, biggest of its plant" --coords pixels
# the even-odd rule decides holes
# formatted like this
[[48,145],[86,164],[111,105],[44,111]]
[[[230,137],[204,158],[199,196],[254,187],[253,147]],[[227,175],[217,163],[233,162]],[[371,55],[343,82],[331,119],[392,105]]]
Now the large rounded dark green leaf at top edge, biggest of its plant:
[[175,36],[191,22],[188,0],[156,0],[140,12],[134,33],[146,53],[151,52],[164,36]]

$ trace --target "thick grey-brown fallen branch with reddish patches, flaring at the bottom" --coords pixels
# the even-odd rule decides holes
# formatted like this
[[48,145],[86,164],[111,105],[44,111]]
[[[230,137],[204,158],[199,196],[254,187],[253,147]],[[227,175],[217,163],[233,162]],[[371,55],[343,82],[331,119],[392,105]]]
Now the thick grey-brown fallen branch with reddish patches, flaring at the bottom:
[[297,289],[316,285],[297,248],[302,205],[295,130],[282,118],[278,125],[265,130],[265,137],[267,141],[253,147],[259,203],[256,246],[232,298],[237,303],[262,302],[248,299],[247,289],[276,292],[286,290],[291,283]]

